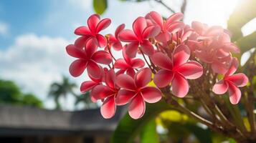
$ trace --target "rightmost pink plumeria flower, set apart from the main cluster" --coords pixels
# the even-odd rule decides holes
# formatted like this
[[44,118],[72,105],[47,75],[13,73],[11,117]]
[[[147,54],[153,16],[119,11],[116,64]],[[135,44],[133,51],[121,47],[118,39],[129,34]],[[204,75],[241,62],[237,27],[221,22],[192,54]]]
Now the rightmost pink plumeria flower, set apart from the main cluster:
[[212,92],[215,94],[224,94],[228,90],[229,100],[232,104],[237,104],[241,99],[241,91],[238,87],[245,87],[248,82],[248,78],[245,74],[234,74],[237,67],[238,61],[234,58],[229,70],[224,74],[223,79],[214,84],[212,88]]

